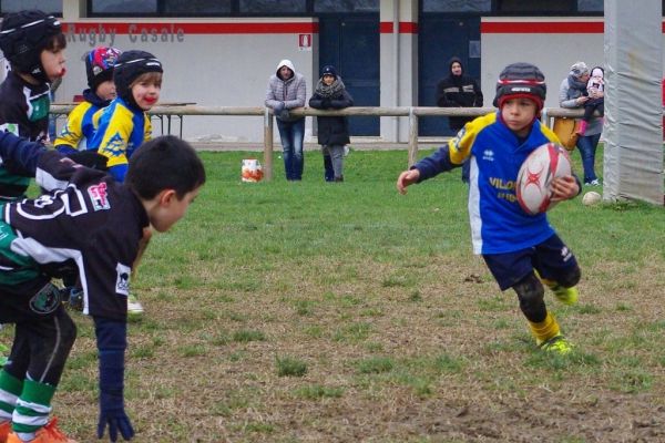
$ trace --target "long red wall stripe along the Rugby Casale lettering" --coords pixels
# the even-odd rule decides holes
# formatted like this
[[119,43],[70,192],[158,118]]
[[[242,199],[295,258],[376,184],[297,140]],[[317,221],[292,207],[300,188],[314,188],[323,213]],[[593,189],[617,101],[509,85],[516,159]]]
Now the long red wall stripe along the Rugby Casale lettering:
[[[71,29],[73,27],[73,30]],[[98,23],[63,23],[65,33],[101,33],[116,34],[177,33],[185,34],[298,34],[318,33],[318,23],[186,23],[186,22],[98,22]]]

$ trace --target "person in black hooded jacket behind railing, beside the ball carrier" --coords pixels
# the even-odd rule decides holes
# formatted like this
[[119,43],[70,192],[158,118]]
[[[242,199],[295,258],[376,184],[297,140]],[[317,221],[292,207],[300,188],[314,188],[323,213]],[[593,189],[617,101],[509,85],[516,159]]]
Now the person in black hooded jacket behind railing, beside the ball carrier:
[[[437,85],[437,105],[441,107],[482,107],[482,91],[478,82],[464,75],[464,66],[458,56],[448,61],[448,76]],[[459,132],[475,117],[449,117],[450,128]],[[469,183],[469,162],[462,165],[462,182]]]

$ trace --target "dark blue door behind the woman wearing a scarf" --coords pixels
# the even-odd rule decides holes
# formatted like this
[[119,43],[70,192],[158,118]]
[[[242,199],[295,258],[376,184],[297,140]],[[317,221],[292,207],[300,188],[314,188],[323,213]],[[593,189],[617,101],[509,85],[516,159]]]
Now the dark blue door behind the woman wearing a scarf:
[[[379,16],[319,19],[319,70],[332,64],[356,106],[380,104]],[[313,87],[314,90],[314,87]],[[379,117],[349,117],[351,135],[379,135]]]

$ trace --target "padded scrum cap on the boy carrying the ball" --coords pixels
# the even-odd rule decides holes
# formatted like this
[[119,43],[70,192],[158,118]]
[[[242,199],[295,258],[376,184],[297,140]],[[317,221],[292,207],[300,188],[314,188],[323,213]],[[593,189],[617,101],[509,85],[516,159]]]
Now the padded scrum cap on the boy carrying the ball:
[[546,93],[545,75],[538,66],[531,63],[513,63],[505,66],[499,74],[493,104],[501,109],[503,102],[509,99],[526,97],[535,102],[540,112],[543,109]]

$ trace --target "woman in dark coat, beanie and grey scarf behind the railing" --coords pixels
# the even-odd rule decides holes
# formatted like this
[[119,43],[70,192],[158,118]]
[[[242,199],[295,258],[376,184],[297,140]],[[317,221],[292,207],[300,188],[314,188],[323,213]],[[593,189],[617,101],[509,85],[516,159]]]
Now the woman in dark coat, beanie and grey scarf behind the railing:
[[[309,107],[317,110],[342,110],[354,105],[354,99],[337,75],[335,66],[328,64],[321,70],[314,95],[309,99]],[[318,116],[318,143],[332,165],[332,181],[344,182],[344,146],[350,142],[349,123],[346,116]],[[326,177],[326,181],[328,177]]]

